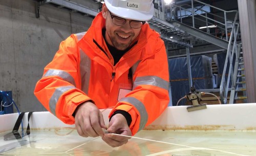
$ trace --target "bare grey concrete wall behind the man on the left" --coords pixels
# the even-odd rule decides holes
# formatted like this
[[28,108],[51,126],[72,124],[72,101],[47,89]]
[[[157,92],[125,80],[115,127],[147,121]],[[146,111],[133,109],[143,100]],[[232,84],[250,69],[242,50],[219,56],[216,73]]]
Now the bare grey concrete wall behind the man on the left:
[[[49,4],[40,6],[36,18],[35,4],[0,0],[0,90],[12,91],[20,112],[46,110],[33,94],[36,82],[59,43],[72,33],[87,31],[93,20]],[[87,4],[93,9],[99,5],[91,0]]]

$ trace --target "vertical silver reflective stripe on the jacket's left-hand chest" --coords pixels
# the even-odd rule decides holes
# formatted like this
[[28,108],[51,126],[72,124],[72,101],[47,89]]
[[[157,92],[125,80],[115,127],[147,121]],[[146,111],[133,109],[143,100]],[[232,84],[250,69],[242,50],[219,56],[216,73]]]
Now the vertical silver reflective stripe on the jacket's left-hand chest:
[[88,95],[91,74],[91,59],[80,49],[81,90]]

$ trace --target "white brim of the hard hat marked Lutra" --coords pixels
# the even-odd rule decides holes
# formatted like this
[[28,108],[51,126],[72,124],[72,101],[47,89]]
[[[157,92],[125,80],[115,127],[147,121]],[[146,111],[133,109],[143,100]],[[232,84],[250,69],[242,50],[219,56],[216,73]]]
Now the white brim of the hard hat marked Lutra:
[[121,7],[113,7],[108,1],[105,1],[105,5],[111,13],[125,19],[147,21],[147,20],[150,20],[154,14],[153,3],[150,9],[150,12],[143,12],[143,11],[121,8]]

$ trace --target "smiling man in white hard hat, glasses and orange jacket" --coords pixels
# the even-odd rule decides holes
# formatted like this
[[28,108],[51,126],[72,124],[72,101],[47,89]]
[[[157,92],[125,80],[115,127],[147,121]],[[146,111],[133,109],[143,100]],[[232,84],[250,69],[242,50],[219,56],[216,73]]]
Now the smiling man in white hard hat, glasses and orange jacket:
[[[127,143],[167,107],[168,64],[160,35],[146,20],[152,0],[105,0],[86,33],[62,41],[34,94],[83,137]],[[113,107],[106,127],[99,109]],[[102,131],[106,129],[110,133]]]

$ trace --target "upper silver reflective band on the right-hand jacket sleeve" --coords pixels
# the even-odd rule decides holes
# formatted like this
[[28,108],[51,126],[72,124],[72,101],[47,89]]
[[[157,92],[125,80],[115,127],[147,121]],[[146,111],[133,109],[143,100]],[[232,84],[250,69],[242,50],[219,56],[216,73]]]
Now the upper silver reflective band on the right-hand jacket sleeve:
[[167,91],[169,88],[169,82],[165,81],[164,79],[162,79],[158,76],[143,76],[143,77],[137,77],[135,79],[133,89],[135,87],[137,87],[138,85],[143,85],[143,84],[158,86]]

